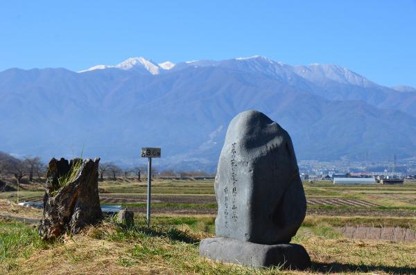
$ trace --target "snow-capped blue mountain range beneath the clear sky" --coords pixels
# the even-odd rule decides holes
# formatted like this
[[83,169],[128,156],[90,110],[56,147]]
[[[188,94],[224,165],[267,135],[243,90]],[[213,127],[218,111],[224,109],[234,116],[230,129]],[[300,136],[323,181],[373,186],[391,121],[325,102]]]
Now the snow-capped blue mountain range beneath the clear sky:
[[227,125],[257,109],[291,134],[298,159],[416,156],[416,90],[383,87],[333,64],[263,56],[156,63],[144,57],[83,71],[0,72],[0,151],[85,156],[130,165],[141,146],[159,165],[214,170]]

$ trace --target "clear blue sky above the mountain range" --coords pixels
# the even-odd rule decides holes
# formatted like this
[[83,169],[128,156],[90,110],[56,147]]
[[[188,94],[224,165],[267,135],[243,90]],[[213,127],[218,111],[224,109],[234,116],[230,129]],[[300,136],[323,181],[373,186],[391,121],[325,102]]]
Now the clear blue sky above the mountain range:
[[265,55],[347,66],[416,87],[416,1],[2,1],[0,71],[10,67]]

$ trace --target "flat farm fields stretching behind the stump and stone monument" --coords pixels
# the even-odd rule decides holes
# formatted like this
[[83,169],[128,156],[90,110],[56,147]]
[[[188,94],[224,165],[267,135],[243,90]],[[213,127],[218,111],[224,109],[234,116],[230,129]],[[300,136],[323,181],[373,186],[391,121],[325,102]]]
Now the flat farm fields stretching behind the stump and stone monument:
[[[98,184],[101,204],[121,204],[146,211],[146,181],[119,178]],[[331,181],[304,182],[309,215],[416,216],[416,183],[397,186],[334,186]],[[22,186],[20,201],[42,202],[43,186]],[[17,202],[16,192],[0,193],[0,199]],[[212,180],[155,179],[152,184],[153,213],[215,215]]]

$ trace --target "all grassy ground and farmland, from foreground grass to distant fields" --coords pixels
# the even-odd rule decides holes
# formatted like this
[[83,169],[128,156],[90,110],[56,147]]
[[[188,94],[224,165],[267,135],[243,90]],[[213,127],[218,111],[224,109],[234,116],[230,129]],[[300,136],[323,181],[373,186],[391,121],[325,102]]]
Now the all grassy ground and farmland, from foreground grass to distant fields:
[[[20,200],[41,201],[42,185],[22,186]],[[293,239],[313,262],[306,272],[251,269],[198,256],[214,235],[212,181],[155,180],[153,224],[145,226],[146,182],[99,183],[102,204],[135,211],[134,227],[107,218],[77,236],[46,243],[33,224],[42,210],[0,193],[0,274],[416,274],[416,184],[333,186],[305,183],[308,213]]]

